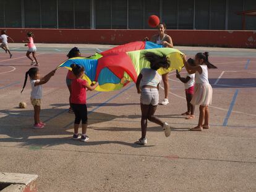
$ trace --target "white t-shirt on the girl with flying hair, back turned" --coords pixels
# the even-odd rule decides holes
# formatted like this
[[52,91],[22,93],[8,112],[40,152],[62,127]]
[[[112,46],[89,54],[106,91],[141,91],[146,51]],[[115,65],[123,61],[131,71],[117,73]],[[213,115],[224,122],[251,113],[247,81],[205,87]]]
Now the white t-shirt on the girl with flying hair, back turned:
[[153,69],[143,68],[140,74],[142,74],[141,87],[143,85],[157,86],[162,80],[161,75]]

